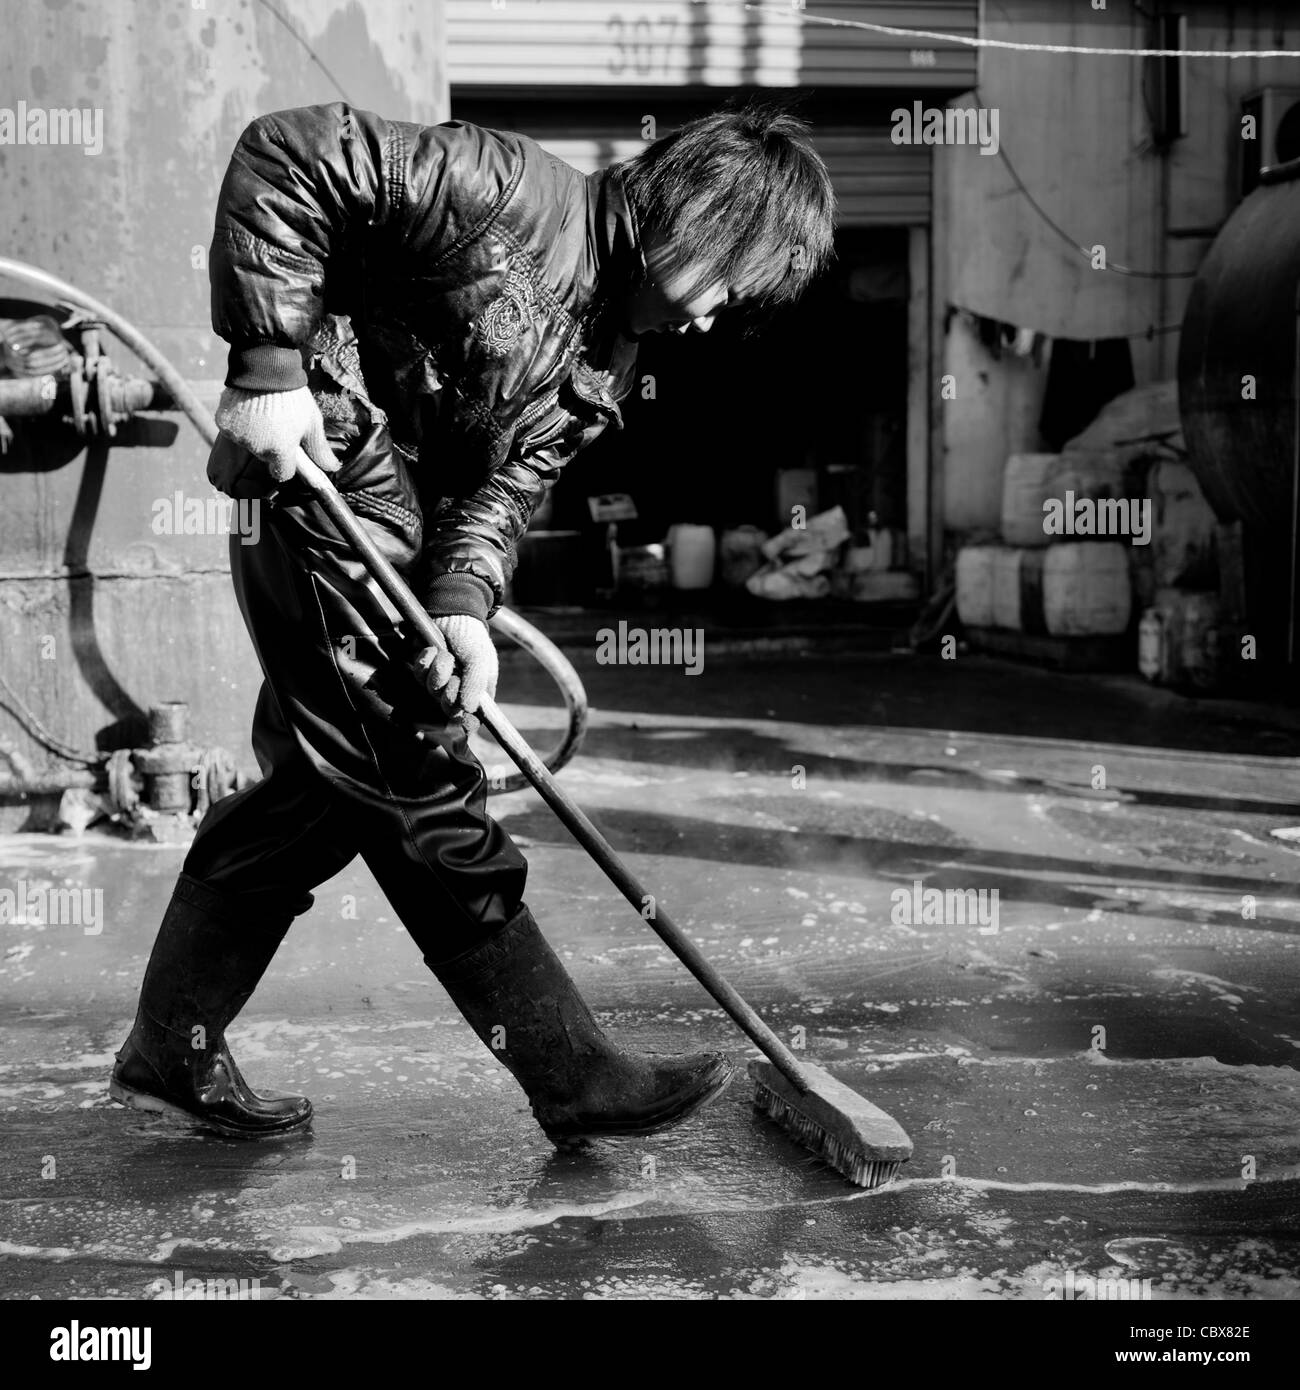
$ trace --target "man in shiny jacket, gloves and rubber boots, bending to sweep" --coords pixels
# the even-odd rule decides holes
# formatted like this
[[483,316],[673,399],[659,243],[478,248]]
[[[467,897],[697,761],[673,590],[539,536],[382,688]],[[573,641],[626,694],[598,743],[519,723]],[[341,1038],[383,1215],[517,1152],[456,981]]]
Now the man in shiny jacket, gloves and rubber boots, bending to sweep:
[[[524,136],[339,103],[245,131],[210,260],[229,371],[209,478],[264,502],[257,543],[231,538],[263,778],[199,827],[115,1099],[225,1134],[309,1123],[306,1098],[247,1087],[224,1034],[311,890],[357,855],[553,1140],[651,1133],[727,1084],[720,1054],[640,1055],[596,1026],[523,901],[466,717],[495,694],[488,620],[516,543],[560,468],[621,428],[638,339],[793,302],[833,214],[805,126],[772,107],[590,177]],[[446,652],[420,649],[295,478],[299,446]]]

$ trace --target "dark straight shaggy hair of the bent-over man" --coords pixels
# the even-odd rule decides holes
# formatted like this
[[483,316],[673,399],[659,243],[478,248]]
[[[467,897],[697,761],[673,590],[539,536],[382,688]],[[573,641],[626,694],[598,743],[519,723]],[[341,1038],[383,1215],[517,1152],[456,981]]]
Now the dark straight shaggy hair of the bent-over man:
[[665,135],[619,165],[642,231],[655,227],[695,292],[748,291],[745,317],[793,303],[827,265],[836,195],[808,125],[779,100],[751,100]]

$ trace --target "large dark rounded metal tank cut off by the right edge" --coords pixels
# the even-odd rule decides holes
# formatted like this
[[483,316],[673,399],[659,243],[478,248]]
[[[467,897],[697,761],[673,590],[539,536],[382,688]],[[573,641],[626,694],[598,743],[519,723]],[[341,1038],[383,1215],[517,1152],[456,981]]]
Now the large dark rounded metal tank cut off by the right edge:
[[1265,170],[1215,238],[1178,354],[1192,467],[1221,521],[1240,521],[1260,660],[1300,656],[1296,614],[1296,329],[1300,160]]

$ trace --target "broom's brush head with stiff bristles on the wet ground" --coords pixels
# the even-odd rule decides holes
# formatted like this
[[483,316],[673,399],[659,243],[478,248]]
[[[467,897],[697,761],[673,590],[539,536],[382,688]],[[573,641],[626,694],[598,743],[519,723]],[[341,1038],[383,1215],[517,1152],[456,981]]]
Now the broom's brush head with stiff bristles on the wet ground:
[[770,1062],[751,1062],[755,1106],[858,1187],[891,1183],[912,1154],[904,1130],[820,1068],[804,1070],[808,1093],[795,1091]]

